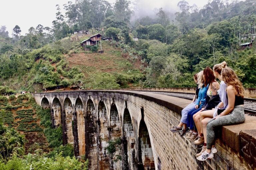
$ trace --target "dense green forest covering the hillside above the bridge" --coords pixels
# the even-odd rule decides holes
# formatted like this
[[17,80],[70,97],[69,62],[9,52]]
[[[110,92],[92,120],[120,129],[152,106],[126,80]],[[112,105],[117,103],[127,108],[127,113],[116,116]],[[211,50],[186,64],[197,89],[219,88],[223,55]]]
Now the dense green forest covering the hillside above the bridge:
[[[255,87],[255,45],[241,50],[239,44],[255,37],[256,1],[213,0],[202,9],[180,1],[178,6],[180,11],[172,15],[160,8],[154,18],[145,16],[130,22],[133,11],[127,0],[117,0],[114,6],[104,0],[81,0],[65,4],[65,16],[56,5],[52,28],[39,24],[20,36],[21,30],[15,26],[14,37],[9,38],[2,26],[0,85],[30,91],[60,86],[123,88],[131,84],[193,87],[194,73],[225,60],[244,87]],[[62,38],[80,30],[111,37],[111,45],[121,49],[131,65],[139,61],[140,66],[133,70],[120,65],[121,73],[91,70],[97,74],[84,74],[86,68],[70,66],[69,56],[88,52],[81,50],[79,42],[66,45],[68,38]],[[135,42],[132,37],[140,39]]]

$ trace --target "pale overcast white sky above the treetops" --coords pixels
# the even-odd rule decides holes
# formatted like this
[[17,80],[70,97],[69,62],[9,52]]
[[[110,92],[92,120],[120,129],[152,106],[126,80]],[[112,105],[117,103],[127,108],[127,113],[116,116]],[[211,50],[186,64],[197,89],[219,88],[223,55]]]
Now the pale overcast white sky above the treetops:
[[[5,25],[9,36],[15,25],[20,26],[21,35],[28,33],[30,27],[36,27],[38,24],[44,27],[51,27],[55,20],[56,4],[63,7],[68,1],[75,0],[0,0],[0,26]],[[107,0],[114,3],[115,0]],[[173,13],[178,11],[177,4],[180,0],[131,0],[132,4],[143,7],[144,11],[155,11],[160,7],[163,10],[169,10]],[[196,4],[202,8],[207,4],[207,0],[186,0],[190,6]],[[135,2],[135,3],[134,3]],[[64,15],[64,11],[63,11]],[[135,13],[136,15],[136,13]]]

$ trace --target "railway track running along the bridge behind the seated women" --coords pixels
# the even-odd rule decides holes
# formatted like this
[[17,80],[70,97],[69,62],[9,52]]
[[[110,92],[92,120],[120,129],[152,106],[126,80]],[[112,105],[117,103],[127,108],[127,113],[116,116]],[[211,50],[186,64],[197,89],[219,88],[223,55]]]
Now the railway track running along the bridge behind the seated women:
[[[138,90],[138,91],[142,91],[142,90]],[[187,92],[168,92],[168,91],[150,91],[150,92],[188,99],[188,100],[193,100],[193,97],[195,96],[195,93],[187,93]],[[244,98],[244,107],[245,107],[244,108],[245,113],[251,116],[256,116],[256,99]]]

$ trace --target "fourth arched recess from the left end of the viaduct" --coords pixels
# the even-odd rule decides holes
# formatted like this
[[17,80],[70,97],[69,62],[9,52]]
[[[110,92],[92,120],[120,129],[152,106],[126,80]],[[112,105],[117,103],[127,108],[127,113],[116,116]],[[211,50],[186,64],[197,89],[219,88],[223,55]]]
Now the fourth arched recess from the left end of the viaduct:
[[[77,135],[77,141],[75,139],[76,135]],[[77,142],[77,145],[76,145],[76,142]],[[84,110],[83,102],[80,98],[76,99],[76,104],[75,104],[74,145],[77,146],[77,148],[75,148],[77,149],[77,155],[85,154],[85,110]]]

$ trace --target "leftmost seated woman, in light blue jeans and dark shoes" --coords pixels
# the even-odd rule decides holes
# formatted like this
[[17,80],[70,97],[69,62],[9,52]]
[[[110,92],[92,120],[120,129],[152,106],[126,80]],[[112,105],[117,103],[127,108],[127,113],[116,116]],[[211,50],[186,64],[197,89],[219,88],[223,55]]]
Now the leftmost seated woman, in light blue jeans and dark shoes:
[[[195,83],[198,84],[197,76],[198,76],[198,73],[195,74],[193,78],[194,78]],[[191,109],[196,107],[196,101],[197,101],[197,98],[198,98],[199,89],[200,89],[200,87],[198,85],[197,88],[196,88],[196,94],[195,94],[192,102],[181,111],[180,124],[178,126],[172,128],[171,129],[172,132],[182,131],[180,135],[184,136],[189,131],[189,128],[187,128],[187,115],[188,115],[188,112]],[[182,129],[183,125],[184,125],[184,128]]]

